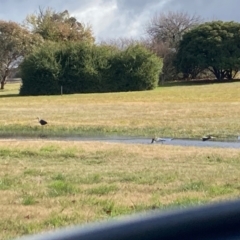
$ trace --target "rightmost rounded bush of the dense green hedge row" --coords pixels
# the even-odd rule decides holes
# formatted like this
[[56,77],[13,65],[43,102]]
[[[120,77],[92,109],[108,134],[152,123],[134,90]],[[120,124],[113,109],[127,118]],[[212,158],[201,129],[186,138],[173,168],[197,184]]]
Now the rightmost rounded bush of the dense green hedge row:
[[133,44],[110,60],[113,91],[154,89],[158,84],[162,60],[141,44]]

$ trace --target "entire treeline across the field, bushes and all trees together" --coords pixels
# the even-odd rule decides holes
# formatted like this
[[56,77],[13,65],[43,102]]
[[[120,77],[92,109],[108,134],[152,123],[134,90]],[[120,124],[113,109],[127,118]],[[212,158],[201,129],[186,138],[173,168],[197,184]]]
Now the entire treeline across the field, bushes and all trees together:
[[39,9],[26,23],[0,20],[1,89],[18,66],[21,95],[150,90],[172,80],[231,80],[240,69],[238,22],[160,13],[147,38],[100,43],[67,10]]

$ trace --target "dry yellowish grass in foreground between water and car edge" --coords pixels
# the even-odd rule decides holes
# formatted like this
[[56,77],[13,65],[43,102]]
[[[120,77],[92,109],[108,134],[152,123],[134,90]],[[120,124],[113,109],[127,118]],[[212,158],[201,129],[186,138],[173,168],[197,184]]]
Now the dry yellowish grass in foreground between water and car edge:
[[239,196],[237,149],[0,142],[0,238]]

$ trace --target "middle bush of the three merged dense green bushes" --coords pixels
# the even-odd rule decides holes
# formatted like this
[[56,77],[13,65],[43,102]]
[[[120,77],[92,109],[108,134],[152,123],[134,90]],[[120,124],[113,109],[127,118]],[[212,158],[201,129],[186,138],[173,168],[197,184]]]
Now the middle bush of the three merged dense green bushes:
[[109,90],[109,56],[115,50],[86,42],[69,43],[58,52],[62,66],[59,83],[65,93],[106,92]]

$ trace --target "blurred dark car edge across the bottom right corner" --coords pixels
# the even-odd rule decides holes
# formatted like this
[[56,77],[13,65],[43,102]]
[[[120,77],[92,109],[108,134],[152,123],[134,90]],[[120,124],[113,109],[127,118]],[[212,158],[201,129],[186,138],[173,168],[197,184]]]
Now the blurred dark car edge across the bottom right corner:
[[240,239],[240,200],[60,229],[19,240],[236,240]]

